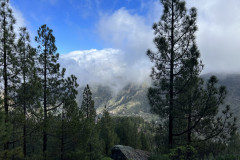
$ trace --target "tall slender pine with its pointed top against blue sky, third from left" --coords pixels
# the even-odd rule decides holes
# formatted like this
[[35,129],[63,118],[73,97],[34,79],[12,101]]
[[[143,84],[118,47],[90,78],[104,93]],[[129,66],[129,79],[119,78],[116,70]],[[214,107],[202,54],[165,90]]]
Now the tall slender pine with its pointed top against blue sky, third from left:
[[42,99],[43,99],[43,155],[46,159],[47,138],[48,138],[48,113],[56,110],[63,104],[65,88],[64,73],[65,69],[60,71],[60,65],[57,63],[59,54],[56,53],[55,37],[53,30],[46,25],[42,25],[38,30],[38,36],[35,41],[38,43],[37,51],[39,53],[38,73],[41,78]]

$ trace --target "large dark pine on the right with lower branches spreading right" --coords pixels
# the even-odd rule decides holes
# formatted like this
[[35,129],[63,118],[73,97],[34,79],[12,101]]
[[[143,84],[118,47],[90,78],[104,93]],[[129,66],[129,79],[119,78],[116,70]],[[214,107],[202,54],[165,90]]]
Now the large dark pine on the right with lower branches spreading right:
[[224,104],[226,88],[216,87],[214,76],[205,87],[199,77],[203,65],[195,42],[196,9],[187,12],[185,2],[180,0],[161,2],[163,16],[153,25],[158,52],[147,52],[155,63],[151,74],[154,84],[148,98],[152,110],[168,118],[169,147],[173,140],[178,141],[175,144],[186,144],[186,137],[188,144],[193,137],[201,141],[229,137],[236,128],[230,107],[227,105],[217,115]]

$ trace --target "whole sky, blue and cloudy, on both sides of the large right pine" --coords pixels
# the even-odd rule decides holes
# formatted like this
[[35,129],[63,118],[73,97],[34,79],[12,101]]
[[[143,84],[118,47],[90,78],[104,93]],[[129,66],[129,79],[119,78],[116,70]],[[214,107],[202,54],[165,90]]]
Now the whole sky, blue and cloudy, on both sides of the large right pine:
[[[160,0],[10,0],[18,26],[32,44],[37,29],[53,29],[60,63],[81,84],[119,89],[149,81],[146,56],[154,49],[152,24],[162,15]],[[240,0],[186,0],[198,10],[197,44],[203,73],[240,73]],[[16,28],[17,28],[16,27]]]

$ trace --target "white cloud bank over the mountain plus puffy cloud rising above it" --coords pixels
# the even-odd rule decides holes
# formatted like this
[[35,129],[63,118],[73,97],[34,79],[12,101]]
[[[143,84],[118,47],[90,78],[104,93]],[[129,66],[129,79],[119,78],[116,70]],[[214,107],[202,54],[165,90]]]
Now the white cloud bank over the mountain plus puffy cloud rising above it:
[[101,39],[112,48],[63,54],[63,67],[77,75],[82,85],[97,83],[119,90],[127,83],[147,82],[151,64],[145,52],[153,48],[153,33],[144,17],[121,8],[103,15],[97,28]]

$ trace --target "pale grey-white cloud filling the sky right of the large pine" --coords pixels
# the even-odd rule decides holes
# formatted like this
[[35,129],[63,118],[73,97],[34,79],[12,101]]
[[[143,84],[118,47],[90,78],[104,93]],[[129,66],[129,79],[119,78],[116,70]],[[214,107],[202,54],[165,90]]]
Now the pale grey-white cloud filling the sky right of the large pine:
[[240,72],[240,1],[188,0],[198,9],[197,42],[206,72]]

